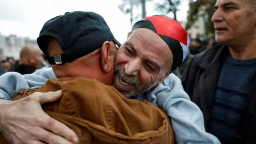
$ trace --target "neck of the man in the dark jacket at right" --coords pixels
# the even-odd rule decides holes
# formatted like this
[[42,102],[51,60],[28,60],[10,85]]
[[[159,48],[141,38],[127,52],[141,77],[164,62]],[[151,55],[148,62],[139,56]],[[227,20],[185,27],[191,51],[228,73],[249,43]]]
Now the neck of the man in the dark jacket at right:
[[230,55],[235,59],[247,60],[256,58],[256,38],[244,45],[229,47]]

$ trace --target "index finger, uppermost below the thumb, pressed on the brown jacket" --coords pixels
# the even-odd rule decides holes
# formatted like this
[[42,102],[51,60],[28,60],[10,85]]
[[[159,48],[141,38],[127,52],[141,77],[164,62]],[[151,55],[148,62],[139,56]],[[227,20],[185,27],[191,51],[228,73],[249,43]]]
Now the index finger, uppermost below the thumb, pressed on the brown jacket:
[[58,136],[62,136],[66,138],[67,140],[75,144],[78,143],[78,136],[68,126],[62,124],[61,122],[59,122],[58,120],[55,120],[54,118],[51,118],[50,116],[48,118],[45,118],[44,120],[45,120],[44,126],[43,126],[44,128],[46,128],[47,130],[53,132]]

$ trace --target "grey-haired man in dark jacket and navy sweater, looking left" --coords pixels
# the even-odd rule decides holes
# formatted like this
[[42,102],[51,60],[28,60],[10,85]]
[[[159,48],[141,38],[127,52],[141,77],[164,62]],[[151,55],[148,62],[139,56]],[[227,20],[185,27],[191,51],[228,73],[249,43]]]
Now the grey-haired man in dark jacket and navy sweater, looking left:
[[256,143],[256,2],[217,0],[218,44],[194,56],[182,84],[222,144]]

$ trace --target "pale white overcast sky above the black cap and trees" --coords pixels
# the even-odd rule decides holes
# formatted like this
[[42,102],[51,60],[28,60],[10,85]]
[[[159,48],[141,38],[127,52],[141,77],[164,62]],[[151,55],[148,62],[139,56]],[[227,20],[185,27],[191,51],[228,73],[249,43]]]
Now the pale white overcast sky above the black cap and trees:
[[[188,1],[182,1],[178,20],[186,19],[188,10]],[[106,20],[116,39],[122,43],[131,26],[130,15],[124,15],[118,9],[121,2],[122,0],[0,0],[0,33],[36,39],[44,22],[50,18],[65,12],[92,11]],[[154,11],[154,5],[150,3],[146,4],[146,10],[147,16],[160,14]],[[137,11],[140,12],[141,9],[135,12]]]

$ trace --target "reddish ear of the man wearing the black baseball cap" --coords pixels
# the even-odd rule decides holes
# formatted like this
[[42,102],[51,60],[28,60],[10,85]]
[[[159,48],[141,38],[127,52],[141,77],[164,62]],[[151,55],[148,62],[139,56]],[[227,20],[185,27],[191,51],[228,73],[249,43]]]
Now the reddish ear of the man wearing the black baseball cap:
[[102,44],[102,47],[101,47],[101,67],[105,73],[110,72],[112,69],[110,55],[111,55],[111,44],[110,42],[106,41]]

